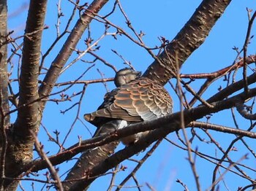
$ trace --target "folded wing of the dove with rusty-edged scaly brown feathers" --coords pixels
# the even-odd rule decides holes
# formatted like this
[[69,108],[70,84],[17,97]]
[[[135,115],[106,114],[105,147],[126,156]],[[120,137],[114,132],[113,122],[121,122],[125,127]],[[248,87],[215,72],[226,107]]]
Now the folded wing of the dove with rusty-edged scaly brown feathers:
[[93,122],[97,117],[121,119],[130,122],[154,120],[171,113],[173,101],[162,85],[142,78],[108,93],[96,112],[86,114]]

